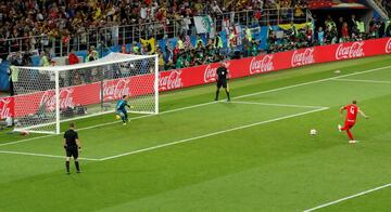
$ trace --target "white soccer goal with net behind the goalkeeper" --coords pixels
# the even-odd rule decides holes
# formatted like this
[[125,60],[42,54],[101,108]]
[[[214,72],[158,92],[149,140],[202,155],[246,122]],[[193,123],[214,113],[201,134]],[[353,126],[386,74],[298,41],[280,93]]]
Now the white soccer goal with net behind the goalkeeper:
[[13,71],[15,131],[59,134],[61,122],[113,112],[124,95],[130,112],[159,112],[156,55],[111,53],[84,64]]

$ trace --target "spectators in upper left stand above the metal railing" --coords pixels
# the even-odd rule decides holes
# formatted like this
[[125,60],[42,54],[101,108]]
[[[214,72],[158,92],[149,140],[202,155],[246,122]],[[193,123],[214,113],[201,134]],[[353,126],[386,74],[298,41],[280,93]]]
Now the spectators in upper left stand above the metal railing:
[[[281,6],[291,1],[280,1]],[[275,0],[0,0],[0,39],[63,38],[88,29],[277,6]],[[114,35],[115,36],[115,35]],[[30,40],[31,47],[38,42]],[[42,40],[41,42],[47,42]]]

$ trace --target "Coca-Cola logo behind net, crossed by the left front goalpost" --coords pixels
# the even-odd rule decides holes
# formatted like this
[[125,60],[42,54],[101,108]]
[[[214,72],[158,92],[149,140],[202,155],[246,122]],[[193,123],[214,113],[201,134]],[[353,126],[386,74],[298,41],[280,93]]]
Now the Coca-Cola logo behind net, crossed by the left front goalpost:
[[[61,89],[60,90],[60,109],[64,109],[67,107],[74,107],[73,94],[74,89]],[[39,105],[45,105],[48,110],[55,110],[55,92],[54,91],[46,91],[39,102]]]

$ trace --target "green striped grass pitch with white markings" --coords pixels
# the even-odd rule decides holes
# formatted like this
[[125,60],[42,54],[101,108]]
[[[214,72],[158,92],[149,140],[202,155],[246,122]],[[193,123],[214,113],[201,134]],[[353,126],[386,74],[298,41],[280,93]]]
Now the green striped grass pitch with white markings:
[[[161,115],[130,115],[126,127],[114,115],[77,120],[81,174],[65,174],[62,135],[1,132],[0,211],[391,208],[390,55],[231,80],[230,89],[231,103],[212,101],[214,84],[163,93]],[[354,145],[337,130],[352,100],[370,117],[358,117]]]

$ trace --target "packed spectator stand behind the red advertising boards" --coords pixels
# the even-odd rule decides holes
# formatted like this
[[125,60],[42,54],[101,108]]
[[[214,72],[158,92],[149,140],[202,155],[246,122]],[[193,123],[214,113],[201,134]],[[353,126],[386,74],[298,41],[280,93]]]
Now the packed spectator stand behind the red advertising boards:
[[[67,56],[72,50],[84,61],[118,51],[157,53],[161,70],[167,70],[390,34],[379,19],[366,30],[366,24],[355,18],[328,16],[319,23],[307,10],[336,1],[0,2],[1,57],[14,65],[51,65],[53,57]],[[200,34],[195,17],[214,31]]]

